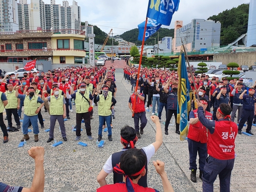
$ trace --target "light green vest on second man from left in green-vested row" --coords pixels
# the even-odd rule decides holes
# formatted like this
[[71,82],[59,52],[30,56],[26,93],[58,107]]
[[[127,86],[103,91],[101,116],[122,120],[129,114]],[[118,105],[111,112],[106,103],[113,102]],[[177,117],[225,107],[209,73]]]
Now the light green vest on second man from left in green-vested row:
[[[37,103],[38,96],[34,95],[31,100],[29,99],[29,95],[26,95],[24,99],[24,114],[27,116],[37,115],[35,112],[38,108]],[[40,104],[41,105],[41,104]]]

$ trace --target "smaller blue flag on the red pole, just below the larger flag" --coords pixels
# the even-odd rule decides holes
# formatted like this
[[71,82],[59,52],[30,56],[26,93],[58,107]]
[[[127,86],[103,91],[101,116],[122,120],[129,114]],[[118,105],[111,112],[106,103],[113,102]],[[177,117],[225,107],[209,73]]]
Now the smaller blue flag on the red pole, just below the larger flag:
[[[147,19],[146,24],[146,33],[145,33],[145,40],[148,39],[151,35],[157,32],[158,29],[160,29],[161,24],[157,23],[154,19]],[[145,28],[145,22],[142,22],[138,25],[139,28],[139,36],[138,40],[143,40],[143,33]]]

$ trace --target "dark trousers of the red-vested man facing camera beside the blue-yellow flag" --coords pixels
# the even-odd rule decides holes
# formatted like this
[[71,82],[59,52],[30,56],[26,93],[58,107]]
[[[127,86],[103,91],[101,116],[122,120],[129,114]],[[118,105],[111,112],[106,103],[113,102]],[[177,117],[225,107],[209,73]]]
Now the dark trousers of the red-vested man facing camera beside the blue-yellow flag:
[[207,143],[194,141],[187,138],[189,152],[189,169],[197,169],[197,152],[199,156],[199,170],[204,170],[205,160],[207,158]]

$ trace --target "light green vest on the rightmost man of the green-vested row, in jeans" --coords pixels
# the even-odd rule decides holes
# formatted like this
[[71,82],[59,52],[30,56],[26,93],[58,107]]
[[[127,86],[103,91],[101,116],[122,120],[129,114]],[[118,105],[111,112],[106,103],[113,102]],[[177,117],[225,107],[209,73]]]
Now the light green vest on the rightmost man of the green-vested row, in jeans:
[[[110,93],[110,91],[109,91]],[[109,116],[112,114],[111,112],[111,104],[112,104],[112,95],[108,94],[106,99],[103,94],[99,95],[99,104],[98,104],[98,115],[100,116]]]

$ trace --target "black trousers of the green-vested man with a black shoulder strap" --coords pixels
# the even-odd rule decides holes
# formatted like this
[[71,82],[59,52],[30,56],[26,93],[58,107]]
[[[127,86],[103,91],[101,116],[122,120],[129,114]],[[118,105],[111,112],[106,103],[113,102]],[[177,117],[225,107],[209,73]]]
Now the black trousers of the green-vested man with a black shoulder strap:
[[91,115],[90,115],[90,112],[87,112],[87,113],[76,113],[76,136],[81,136],[82,118],[84,120],[84,124],[86,125],[86,134],[88,136],[92,135],[92,133],[91,133]]

